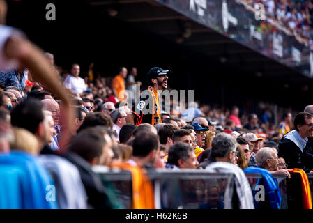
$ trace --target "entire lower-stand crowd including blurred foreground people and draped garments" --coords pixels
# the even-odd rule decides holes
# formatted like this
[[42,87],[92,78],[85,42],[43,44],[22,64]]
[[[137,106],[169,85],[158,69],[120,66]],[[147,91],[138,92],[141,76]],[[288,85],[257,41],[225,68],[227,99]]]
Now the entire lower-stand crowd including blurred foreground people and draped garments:
[[234,174],[236,192],[229,193],[237,202],[226,195],[214,201],[219,194],[213,196],[217,183],[211,183],[195,192],[209,194],[199,208],[257,208],[245,173],[261,173],[269,207],[280,208],[272,174],[312,172],[313,105],[294,118],[286,112],[278,126],[266,107],[259,116],[240,116],[236,106],[181,108],[169,100],[167,113],[160,92],[175,77],[171,70],[151,68],[142,84],[136,68],[128,75],[121,67],[108,81],[94,77],[91,64],[84,79],[79,64],[60,71],[53,54],[20,34],[0,25],[0,208],[124,208],[97,167],[132,173],[132,208],[155,208],[146,174],[155,169]]

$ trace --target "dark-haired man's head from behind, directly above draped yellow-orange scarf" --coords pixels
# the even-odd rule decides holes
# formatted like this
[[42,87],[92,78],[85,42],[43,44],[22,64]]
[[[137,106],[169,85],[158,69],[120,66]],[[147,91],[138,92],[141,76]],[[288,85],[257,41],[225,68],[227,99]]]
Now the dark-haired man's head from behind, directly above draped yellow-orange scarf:
[[158,153],[158,136],[151,132],[139,133],[132,140],[132,157],[128,164],[137,167],[151,167]]

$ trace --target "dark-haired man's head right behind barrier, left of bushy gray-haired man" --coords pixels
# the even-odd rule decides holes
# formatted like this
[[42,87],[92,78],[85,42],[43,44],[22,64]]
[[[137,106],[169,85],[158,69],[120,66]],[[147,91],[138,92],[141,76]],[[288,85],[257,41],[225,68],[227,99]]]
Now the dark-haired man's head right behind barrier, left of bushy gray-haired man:
[[178,142],[169,149],[165,167],[167,169],[194,169],[198,164],[193,148],[188,144]]

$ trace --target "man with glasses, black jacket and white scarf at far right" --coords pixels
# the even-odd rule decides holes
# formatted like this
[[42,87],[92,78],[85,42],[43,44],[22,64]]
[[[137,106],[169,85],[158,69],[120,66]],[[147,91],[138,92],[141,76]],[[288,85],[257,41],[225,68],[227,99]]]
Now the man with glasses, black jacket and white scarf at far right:
[[313,115],[300,112],[296,115],[292,130],[282,137],[278,156],[283,157],[289,168],[313,169]]

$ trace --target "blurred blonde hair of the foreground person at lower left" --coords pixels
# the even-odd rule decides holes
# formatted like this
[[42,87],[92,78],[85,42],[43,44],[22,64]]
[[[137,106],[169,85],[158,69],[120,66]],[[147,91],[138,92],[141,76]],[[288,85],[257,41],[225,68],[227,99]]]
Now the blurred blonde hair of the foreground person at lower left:
[[36,137],[24,128],[13,128],[13,139],[10,140],[10,149],[18,149],[38,155],[38,140]]

